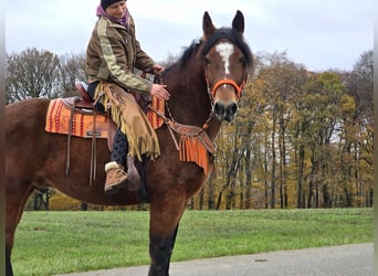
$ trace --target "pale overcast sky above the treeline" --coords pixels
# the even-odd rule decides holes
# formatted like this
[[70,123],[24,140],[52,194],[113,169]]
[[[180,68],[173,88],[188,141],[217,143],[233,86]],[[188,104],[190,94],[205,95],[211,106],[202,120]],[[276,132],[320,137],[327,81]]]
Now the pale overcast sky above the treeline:
[[[7,53],[27,47],[84,53],[99,0],[7,0]],[[374,0],[128,0],[143,49],[157,62],[202,34],[202,15],[230,26],[245,18],[252,52],[283,52],[312,71],[351,70],[374,47]]]

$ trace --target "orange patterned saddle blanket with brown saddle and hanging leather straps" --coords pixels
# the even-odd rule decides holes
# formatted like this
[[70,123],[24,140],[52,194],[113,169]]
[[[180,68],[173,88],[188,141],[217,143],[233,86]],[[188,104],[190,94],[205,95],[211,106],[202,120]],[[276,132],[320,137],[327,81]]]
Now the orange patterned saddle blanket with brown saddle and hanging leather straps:
[[70,171],[72,136],[92,139],[90,172],[90,184],[92,184],[96,174],[96,139],[107,139],[108,149],[112,151],[117,126],[109,114],[95,109],[96,103],[88,95],[84,82],[76,82],[75,87],[81,97],[56,98],[50,103],[45,130],[67,135],[65,174]]

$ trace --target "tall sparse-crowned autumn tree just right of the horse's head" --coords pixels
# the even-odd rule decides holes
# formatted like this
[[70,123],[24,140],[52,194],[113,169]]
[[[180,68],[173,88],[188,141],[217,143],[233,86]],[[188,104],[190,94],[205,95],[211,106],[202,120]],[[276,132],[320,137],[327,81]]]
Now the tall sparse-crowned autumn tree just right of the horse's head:
[[270,205],[275,208],[280,199],[283,209],[288,205],[287,127],[295,115],[295,99],[307,73],[303,65],[290,61],[286,52],[263,54],[258,72],[255,89],[261,89],[259,93],[266,97],[264,116],[269,120],[264,163],[266,172],[270,171]]

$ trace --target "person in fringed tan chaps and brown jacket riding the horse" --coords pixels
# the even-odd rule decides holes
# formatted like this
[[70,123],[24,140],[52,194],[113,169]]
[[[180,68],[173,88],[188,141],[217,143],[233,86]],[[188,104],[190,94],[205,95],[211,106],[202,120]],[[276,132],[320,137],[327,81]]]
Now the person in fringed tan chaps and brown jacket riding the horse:
[[[126,183],[128,190],[140,185],[134,157],[154,159],[160,153],[157,136],[130,91],[169,99],[166,85],[153,84],[134,73],[135,68],[159,73],[162,66],[146,54],[136,39],[134,20],[125,0],[101,0],[98,20],[86,50],[88,93],[111,109],[117,124],[111,162],[105,164],[105,192],[112,194]],[[127,156],[127,173],[124,171]]]

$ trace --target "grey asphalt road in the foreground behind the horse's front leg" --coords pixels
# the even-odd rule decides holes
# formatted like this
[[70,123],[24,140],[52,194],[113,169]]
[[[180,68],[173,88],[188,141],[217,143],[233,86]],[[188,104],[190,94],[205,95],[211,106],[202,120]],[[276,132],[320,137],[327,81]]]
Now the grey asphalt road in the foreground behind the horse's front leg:
[[[372,276],[372,243],[171,263],[170,276]],[[145,276],[148,266],[64,276]],[[60,275],[63,276],[63,275]]]

